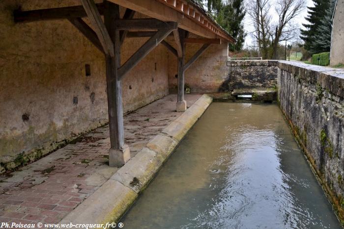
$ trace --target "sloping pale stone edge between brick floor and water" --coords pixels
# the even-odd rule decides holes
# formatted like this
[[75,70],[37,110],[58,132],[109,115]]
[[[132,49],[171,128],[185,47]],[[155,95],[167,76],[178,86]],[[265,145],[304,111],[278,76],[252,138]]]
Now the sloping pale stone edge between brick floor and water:
[[105,225],[117,222],[139,197],[212,100],[212,97],[203,94],[59,224]]

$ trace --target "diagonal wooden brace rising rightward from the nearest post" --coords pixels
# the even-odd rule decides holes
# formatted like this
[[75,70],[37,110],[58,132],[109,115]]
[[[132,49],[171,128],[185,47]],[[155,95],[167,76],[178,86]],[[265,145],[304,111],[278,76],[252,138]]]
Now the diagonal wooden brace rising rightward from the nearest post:
[[118,76],[122,79],[132,68],[134,68],[140,60],[142,60],[150,51],[164,40],[174,29],[177,29],[176,23],[167,23],[164,29],[155,33],[143,46],[136,51],[119,69]]

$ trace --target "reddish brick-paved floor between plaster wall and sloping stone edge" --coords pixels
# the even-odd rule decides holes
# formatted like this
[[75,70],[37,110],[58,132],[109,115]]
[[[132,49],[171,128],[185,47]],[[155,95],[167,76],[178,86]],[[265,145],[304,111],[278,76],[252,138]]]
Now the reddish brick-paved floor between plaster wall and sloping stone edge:
[[[200,94],[185,96],[191,106]],[[136,155],[181,115],[169,95],[124,116],[125,142]],[[108,166],[109,127],[99,127],[74,144],[11,174],[0,176],[0,222],[58,223],[95,192],[117,168]]]

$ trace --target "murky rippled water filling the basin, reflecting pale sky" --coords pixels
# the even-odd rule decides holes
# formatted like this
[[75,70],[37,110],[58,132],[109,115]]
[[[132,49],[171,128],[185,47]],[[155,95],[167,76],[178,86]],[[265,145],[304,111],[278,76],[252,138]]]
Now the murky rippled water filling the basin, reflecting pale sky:
[[274,104],[214,102],[124,228],[341,228]]

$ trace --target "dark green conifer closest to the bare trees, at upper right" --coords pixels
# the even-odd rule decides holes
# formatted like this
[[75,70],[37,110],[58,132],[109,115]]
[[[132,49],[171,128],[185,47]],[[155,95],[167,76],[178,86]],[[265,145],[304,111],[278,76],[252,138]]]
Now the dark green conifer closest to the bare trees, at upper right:
[[[304,48],[308,51],[311,51],[312,44],[317,40],[318,34],[317,29],[323,21],[326,10],[329,8],[330,0],[313,0],[314,7],[308,8],[308,16],[305,18],[308,21],[308,24],[302,24],[306,29],[301,29],[300,38],[304,40]],[[312,53],[312,51],[311,51]]]

